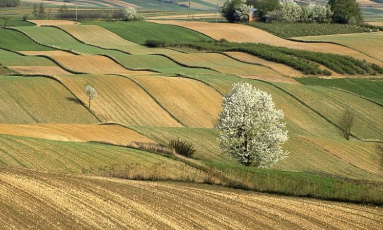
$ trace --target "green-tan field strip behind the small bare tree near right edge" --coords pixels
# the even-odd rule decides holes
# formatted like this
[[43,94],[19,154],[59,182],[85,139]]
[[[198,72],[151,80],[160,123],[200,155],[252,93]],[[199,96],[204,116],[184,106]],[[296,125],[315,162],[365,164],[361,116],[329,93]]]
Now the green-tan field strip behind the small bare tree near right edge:
[[355,114],[352,133],[362,139],[383,140],[383,107],[361,97],[336,89],[321,86],[296,86],[276,83],[319,111],[332,122],[339,124],[339,118],[346,108]]

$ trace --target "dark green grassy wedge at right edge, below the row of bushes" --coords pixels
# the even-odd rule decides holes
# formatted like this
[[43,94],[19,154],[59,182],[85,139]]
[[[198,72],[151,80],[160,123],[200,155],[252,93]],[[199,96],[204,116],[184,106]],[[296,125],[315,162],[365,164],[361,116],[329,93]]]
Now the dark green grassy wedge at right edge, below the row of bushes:
[[336,87],[347,90],[357,95],[369,98],[383,104],[383,81],[366,79],[319,79],[319,78],[297,78],[304,85],[320,85],[324,87]]

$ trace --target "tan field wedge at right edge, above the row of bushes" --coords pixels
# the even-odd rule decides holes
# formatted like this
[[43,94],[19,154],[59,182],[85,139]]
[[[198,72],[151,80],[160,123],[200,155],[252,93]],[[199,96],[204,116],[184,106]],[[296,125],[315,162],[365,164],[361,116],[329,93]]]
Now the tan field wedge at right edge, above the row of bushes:
[[337,34],[324,36],[296,37],[295,39],[304,41],[330,41],[365,53],[373,58],[383,61],[383,52],[377,47],[383,47],[383,33],[357,33],[357,34]]

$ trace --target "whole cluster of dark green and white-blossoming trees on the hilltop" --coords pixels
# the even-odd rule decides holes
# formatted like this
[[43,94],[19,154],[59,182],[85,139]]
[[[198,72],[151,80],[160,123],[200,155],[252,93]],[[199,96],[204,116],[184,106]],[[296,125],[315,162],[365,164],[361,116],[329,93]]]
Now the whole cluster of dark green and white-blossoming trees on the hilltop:
[[[257,10],[251,11],[252,8]],[[269,22],[359,24],[363,21],[356,0],[329,0],[327,6],[298,5],[294,0],[227,0],[222,15],[230,22],[248,21],[250,16]]]

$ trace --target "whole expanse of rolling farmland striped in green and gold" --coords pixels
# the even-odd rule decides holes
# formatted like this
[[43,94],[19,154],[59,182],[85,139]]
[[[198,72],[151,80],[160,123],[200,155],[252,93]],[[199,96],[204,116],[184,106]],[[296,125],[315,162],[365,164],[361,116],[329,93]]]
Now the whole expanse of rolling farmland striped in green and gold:
[[[223,2],[193,1],[192,14],[211,17],[196,8]],[[242,24],[182,21],[185,1],[70,4],[132,4],[153,19],[31,17],[0,28],[0,228],[383,227],[383,71],[371,64],[383,66],[381,32],[299,42]],[[240,43],[208,49],[231,45],[221,38]],[[199,43],[207,49],[181,45]],[[348,57],[316,54],[321,61],[262,43]],[[268,169],[243,166],[221,148],[218,114],[237,82],[266,91],[284,113],[290,154]],[[354,115],[350,140],[340,126],[346,108]],[[242,144],[233,149],[248,148]]]

